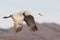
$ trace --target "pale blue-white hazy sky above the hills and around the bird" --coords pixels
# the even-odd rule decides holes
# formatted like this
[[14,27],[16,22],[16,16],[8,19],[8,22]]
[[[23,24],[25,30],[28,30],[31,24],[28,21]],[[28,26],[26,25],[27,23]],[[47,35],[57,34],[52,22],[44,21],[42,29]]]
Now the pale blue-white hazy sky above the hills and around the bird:
[[41,13],[44,16],[36,16],[39,23],[54,22],[60,24],[60,0],[0,0],[0,27],[13,26],[12,19],[2,19],[21,10],[29,10],[31,13]]

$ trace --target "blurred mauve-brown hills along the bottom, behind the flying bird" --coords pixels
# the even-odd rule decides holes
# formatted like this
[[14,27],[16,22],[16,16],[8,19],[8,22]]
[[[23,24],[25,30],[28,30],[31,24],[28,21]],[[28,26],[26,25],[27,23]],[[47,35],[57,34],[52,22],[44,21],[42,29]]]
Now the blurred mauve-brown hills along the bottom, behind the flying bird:
[[56,23],[36,23],[38,31],[29,31],[27,25],[23,25],[21,32],[16,32],[14,28],[7,30],[0,29],[0,37],[11,38],[15,40],[60,40],[60,25]]

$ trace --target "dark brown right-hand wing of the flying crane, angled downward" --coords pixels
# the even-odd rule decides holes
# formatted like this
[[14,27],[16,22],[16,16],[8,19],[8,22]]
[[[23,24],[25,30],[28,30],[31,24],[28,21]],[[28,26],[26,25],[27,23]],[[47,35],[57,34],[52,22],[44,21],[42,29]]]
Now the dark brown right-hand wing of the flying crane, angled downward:
[[29,26],[29,28],[32,29],[32,31],[37,31],[38,30],[33,16],[31,16],[31,15],[24,16],[24,21]]

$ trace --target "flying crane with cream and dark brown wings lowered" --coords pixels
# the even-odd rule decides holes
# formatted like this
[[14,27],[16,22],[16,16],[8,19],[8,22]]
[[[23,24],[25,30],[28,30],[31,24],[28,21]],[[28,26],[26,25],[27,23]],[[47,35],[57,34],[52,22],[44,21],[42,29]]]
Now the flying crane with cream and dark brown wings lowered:
[[[41,14],[38,14],[41,15]],[[42,15],[41,15],[42,16]],[[32,16],[32,14],[29,11],[22,11],[16,14],[12,14],[10,16],[4,16],[3,18],[12,18],[14,21],[14,28],[16,30],[16,32],[19,32],[22,30],[22,25],[23,25],[23,21],[26,22],[27,26],[32,30],[32,31],[37,31],[38,28],[36,26],[34,17]]]

